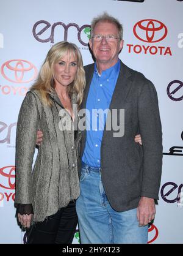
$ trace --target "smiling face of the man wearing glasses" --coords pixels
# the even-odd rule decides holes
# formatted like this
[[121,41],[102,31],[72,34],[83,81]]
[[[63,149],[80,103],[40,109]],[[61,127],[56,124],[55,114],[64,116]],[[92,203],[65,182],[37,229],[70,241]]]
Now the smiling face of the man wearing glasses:
[[[107,21],[99,21],[93,29],[93,36],[95,35],[113,35],[119,38],[117,26]],[[107,42],[103,37],[101,41],[90,39],[90,48],[93,51],[97,64],[106,65],[107,68],[112,67],[118,61],[118,54],[123,48],[123,40],[114,39],[112,42]]]

